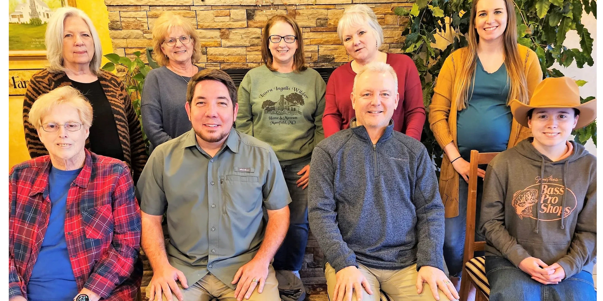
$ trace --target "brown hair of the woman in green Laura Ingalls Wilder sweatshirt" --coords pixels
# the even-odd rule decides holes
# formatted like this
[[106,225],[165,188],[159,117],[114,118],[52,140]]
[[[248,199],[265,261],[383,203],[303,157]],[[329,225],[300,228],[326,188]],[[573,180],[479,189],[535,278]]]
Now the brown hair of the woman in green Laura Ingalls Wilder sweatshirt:
[[277,22],[285,22],[291,25],[293,31],[295,31],[295,40],[297,41],[297,49],[295,49],[295,54],[293,55],[293,72],[301,72],[306,70],[306,58],[303,53],[303,38],[301,37],[301,28],[297,25],[297,22],[292,17],[287,16],[286,14],[278,14],[273,16],[268,20],[266,26],[264,26],[264,31],[262,31],[262,61],[266,63],[266,67],[268,69],[276,71],[276,68],[272,66],[273,57],[270,53],[270,28],[276,24]]

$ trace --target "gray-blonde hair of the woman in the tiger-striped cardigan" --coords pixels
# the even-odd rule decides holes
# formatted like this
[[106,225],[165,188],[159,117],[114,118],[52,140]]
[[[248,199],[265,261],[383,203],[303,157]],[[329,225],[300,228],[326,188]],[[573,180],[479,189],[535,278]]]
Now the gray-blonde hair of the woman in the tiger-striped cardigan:
[[90,72],[100,75],[101,61],[103,60],[101,40],[98,38],[98,33],[92,20],[90,20],[86,13],[75,7],[58,8],[52,14],[50,20],[48,20],[45,36],[46,58],[50,63],[48,70],[52,73],[65,72],[66,70],[63,66],[63,31],[65,30],[65,19],[68,17],[80,17],[88,25],[92,41],[94,42],[94,55],[92,56],[92,61],[90,61]]

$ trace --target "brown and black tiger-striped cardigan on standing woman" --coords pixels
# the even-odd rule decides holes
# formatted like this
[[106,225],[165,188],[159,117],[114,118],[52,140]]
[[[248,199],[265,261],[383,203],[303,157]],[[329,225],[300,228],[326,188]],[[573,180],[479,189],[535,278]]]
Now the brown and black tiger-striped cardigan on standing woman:
[[[128,96],[125,90],[124,82],[118,76],[105,70],[100,71],[98,79],[101,82],[101,86],[115,117],[115,125],[117,126],[119,141],[124,152],[125,163],[130,167],[134,183],[136,183],[148,158],[145,142],[142,138],[142,131],[140,130],[140,122],[136,117],[130,96]],[[48,155],[48,151],[37,135],[36,128],[29,122],[31,106],[40,95],[65,85],[72,85],[71,79],[69,79],[65,72],[52,73],[48,69],[44,69],[31,76],[23,102],[25,141],[27,142],[31,158]],[[86,141],[86,148],[90,149],[89,141]]]

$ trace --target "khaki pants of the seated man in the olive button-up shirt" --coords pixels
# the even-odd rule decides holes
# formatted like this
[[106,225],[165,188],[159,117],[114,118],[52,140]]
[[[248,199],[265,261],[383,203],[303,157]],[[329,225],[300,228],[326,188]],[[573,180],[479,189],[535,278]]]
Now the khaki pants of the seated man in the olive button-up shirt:
[[[212,274],[207,274],[197,283],[189,286],[186,290],[178,283],[178,288],[182,292],[182,296],[184,297],[184,301],[209,301],[214,298],[220,301],[236,301],[235,291],[228,287],[223,282],[219,281],[216,276]],[[147,289],[148,296],[148,289]],[[165,296],[163,297],[163,301],[167,299]],[[249,299],[243,299],[245,301],[280,301],[279,296],[279,283],[276,280],[276,275],[274,274],[274,268],[270,265],[268,269],[268,278],[266,279],[266,284],[264,285],[264,291],[262,293],[257,293],[256,289],[251,294]],[[172,301],[178,301],[178,298],[172,294]]]

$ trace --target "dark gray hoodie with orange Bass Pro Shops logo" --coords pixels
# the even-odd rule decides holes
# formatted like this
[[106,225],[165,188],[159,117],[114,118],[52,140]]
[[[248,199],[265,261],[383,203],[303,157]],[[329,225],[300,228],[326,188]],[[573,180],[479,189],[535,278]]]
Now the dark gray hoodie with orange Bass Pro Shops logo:
[[599,252],[599,160],[571,141],[572,154],[553,162],[532,141],[488,166],[479,223],[486,255],[516,266],[528,257],[557,262],[566,278],[590,273]]

